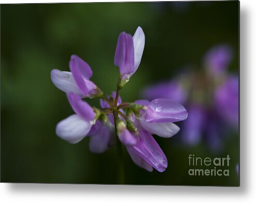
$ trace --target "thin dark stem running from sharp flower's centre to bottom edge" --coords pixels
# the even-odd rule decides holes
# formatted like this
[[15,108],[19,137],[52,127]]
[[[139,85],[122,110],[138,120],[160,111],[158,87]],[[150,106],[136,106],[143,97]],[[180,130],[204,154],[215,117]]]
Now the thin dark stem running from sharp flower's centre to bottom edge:
[[123,158],[123,150],[122,150],[122,143],[118,139],[117,135],[117,127],[116,127],[116,117],[117,112],[114,113],[114,121],[115,121],[115,134],[116,134],[116,152],[117,152],[117,168],[118,168],[118,184],[125,184],[125,168],[124,168],[124,158]]

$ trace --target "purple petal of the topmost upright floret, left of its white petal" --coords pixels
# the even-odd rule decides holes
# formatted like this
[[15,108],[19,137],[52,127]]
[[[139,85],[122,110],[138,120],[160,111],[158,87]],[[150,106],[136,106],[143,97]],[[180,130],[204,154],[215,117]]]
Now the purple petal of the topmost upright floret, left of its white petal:
[[120,75],[126,76],[134,73],[134,47],[130,34],[125,32],[119,34],[114,63],[119,67]]

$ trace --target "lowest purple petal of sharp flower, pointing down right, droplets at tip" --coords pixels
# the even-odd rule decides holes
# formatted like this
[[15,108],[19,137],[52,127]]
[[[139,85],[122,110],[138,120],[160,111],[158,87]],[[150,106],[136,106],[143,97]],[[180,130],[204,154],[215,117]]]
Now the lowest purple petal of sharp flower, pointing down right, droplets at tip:
[[140,131],[137,144],[132,146],[134,152],[159,172],[167,168],[167,158],[157,142],[147,131]]

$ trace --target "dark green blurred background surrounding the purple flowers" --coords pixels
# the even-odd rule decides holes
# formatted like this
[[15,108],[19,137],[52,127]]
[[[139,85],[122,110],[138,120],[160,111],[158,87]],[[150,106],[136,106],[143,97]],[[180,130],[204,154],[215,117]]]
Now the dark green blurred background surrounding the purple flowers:
[[[105,93],[116,88],[114,53],[118,34],[144,30],[141,65],[123,89],[123,101],[175,77],[184,66],[200,69],[212,46],[234,51],[228,71],[238,74],[239,2],[77,3],[1,5],[1,181],[116,184],[116,148],[92,154],[88,139],[69,144],[56,124],[73,114],[65,94],[50,79],[52,69],[69,71],[72,54],[91,66],[92,80]],[[99,100],[87,100],[99,106]],[[179,125],[179,123],[178,123]],[[181,129],[182,130],[182,129]],[[214,154],[202,142],[186,146],[155,137],[168,159],[165,172],[147,172],[125,152],[127,184],[238,185],[238,132]],[[191,177],[188,155],[231,156],[229,177]]]

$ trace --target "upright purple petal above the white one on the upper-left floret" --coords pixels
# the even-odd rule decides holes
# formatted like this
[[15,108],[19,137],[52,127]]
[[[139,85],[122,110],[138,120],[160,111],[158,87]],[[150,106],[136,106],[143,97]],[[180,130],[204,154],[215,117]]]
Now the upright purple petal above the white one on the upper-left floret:
[[92,70],[90,66],[83,59],[76,55],[71,56],[70,69],[78,70],[84,79],[90,79],[92,76]]

